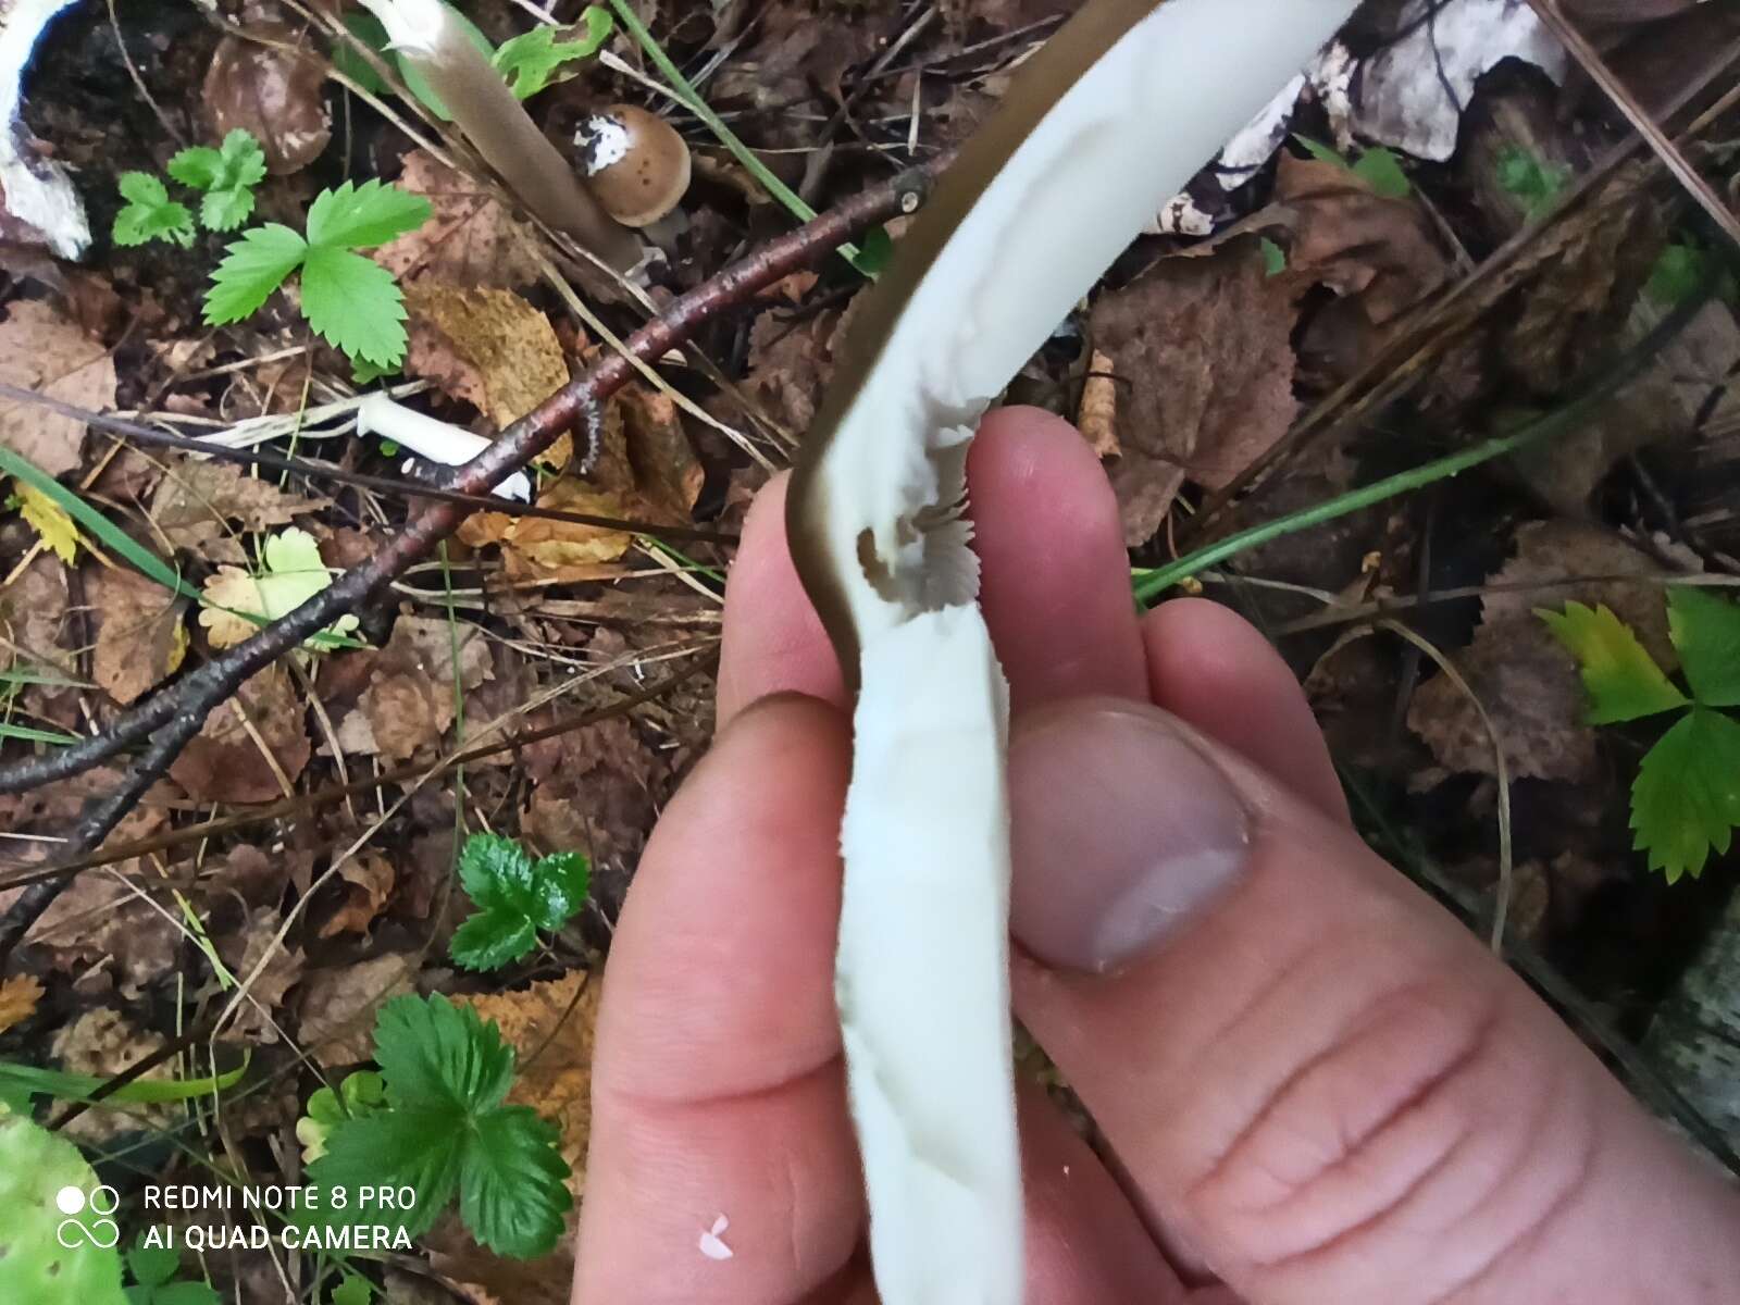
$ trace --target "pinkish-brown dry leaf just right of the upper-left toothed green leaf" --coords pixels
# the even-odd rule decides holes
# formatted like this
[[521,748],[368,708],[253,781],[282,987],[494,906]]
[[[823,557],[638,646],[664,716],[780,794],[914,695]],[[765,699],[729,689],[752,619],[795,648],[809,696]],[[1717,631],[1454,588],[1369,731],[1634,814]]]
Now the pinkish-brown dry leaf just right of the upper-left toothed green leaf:
[[529,228],[425,150],[405,155],[398,188],[425,197],[433,214],[374,259],[400,282],[433,277],[456,285],[513,289],[538,280]]

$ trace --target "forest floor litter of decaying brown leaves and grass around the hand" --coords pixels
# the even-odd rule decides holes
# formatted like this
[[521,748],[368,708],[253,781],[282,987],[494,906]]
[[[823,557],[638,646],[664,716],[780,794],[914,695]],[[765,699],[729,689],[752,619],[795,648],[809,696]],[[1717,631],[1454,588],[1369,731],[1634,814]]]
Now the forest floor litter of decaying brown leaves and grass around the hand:
[[[686,90],[606,10],[557,7],[545,49],[527,10],[461,9],[496,50],[532,33],[503,66],[550,78],[525,108],[571,164],[576,129],[612,104],[654,108],[686,137],[693,179],[642,230],[661,254],[644,285],[600,273],[405,90],[402,61],[369,47],[365,10],[120,3],[111,21],[80,3],[40,42],[23,84],[31,160],[68,179],[90,238],[73,259],[70,228],[10,204],[3,219],[0,381],[73,411],[0,402],[5,762],[176,693],[402,532],[407,492],[345,477],[426,477],[428,459],[358,435],[357,395],[386,386],[485,435],[524,418],[790,230],[769,181],[826,211],[943,157],[1068,10],[637,7]],[[1710,722],[1733,701],[1703,666],[1710,640],[1735,647],[1719,632],[1740,555],[1740,296],[1728,231],[1669,162],[1733,211],[1740,26],[1709,3],[1563,9],[1597,66],[1521,0],[1364,5],[1155,214],[1009,397],[1079,421],[1138,585],[1241,531],[1324,517],[1185,566],[1168,592],[1230,602],[1275,639],[1369,835],[1472,927],[1491,927],[1503,893],[1519,964],[1561,976],[1566,1016],[1608,1054],[1648,1037],[1656,1068],[1634,1088],[1683,1093],[1705,1124],[1681,1122],[1731,1159],[1740,1108],[1717,1100],[1719,1047],[1683,1030],[1740,1037],[1740,976],[1723,969],[1740,813],[1712,790],[1707,807],[1658,804],[1639,825],[1634,783],[1679,717],[1603,715],[1597,686],[1601,658],[1634,647],[1620,661],[1655,684],[1648,661],[1684,720],[1726,738]],[[600,30],[597,49],[553,57]],[[1663,124],[1669,162],[1625,110]],[[207,325],[238,231],[277,224],[311,249],[322,195],[346,183],[407,197],[395,238],[351,230],[320,256],[395,285],[400,369],[379,379],[358,367],[379,365],[369,339],[325,327],[310,256],[258,310]],[[160,237],[134,240],[153,223]],[[872,270],[880,238],[858,242]],[[313,1093],[376,1072],[414,1093],[393,1047],[419,1030],[472,1039],[492,1065],[517,1054],[499,1098],[473,1084],[473,1108],[506,1112],[491,1119],[539,1157],[536,1208],[513,1228],[456,1208],[390,1262],[212,1249],[183,1275],[242,1300],[343,1302],[358,1277],[388,1300],[566,1298],[595,974],[647,832],[710,736],[729,541],[811,421],[863,284],[818,258],[661,350],[539,456],[536,505],[566,515],[480,505],[390,588],[245,677],[7,957],[3,1061],[99,1081],[144,1065],[141,1082],[172,1082],[245,1060],[235,1086],[181,1101],[117,1093],[80,1110],[35,1093],[40,1121],[77,1112],[63,1131],[124,1194],[211,1166],[303,1181]],[[1524,438],[1568,411],[1563,430]],[[164,451],[78,412],[298,461]],[[1462,475],[1326,510],[1503,437],[1510,452]],[[0,910],[64,860],[129,764],[122,750],[0,795]],[[1634,847],[1663,821],[1677,882]],[[480,865],[477,837],[520,844],[498,865],[506,879],[461,873]],[[513,915],[513,877],[543,882],[553,870],[532,867],[562,854],[586,865],[572,910]],[[494,950],[515,954],[496,969],[459,960],[478,959],[465,931],[475,941],[484,917]],[[327,1176],[402,1128],[407,1107],[385,1100],[358,1098]],[[306,1164],[322,1181],[322,1161]]]

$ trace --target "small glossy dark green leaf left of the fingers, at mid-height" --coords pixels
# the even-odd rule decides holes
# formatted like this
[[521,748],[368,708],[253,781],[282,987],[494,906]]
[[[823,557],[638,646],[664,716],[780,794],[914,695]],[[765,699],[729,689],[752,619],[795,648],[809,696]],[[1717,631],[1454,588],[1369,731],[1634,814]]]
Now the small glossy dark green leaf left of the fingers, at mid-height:
[[466,969],[499,969],[532,950],[586,901],[592,867],[579,853],[536,861],[513,839],[473,833],[459,854],[459,882],[478,907],[452,934],[452,959]]

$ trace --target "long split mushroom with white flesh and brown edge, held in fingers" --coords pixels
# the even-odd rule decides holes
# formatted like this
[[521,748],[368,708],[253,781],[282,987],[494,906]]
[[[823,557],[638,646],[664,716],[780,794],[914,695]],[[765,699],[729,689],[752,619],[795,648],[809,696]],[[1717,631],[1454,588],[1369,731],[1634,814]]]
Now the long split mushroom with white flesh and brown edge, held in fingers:
[[858,310],[788,496],[858,687],[835,997],[884,1305],[1016,1305],[1007,691],[966,449],[1114,258],[1354,0],[1091,0],[1021,66]]

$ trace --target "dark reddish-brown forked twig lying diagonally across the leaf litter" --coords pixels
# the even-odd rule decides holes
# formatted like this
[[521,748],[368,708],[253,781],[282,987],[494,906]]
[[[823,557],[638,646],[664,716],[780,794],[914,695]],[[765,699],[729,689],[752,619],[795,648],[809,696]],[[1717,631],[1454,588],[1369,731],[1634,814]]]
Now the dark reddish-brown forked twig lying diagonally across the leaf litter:
[[[931,164],[901,172],[816,221],[769,240],[755,254],[680,296],[663,315],[640,327],[626,341],[628,355],[639,360],[663,357],[666,350],[689,339],[701,324],[717,313],[741,304],[757,291],[814,263],[851,233],[900,212],[912,212],[929,195],[934,177],[936,167]],[[619,390],[633,376],[628,355],[611,355],[592,372],[571,381],[529,416],[508,426],[484,454],[454,472],[451,485],[466,494],[482,494],[505,475],[522,470],[574,426],[588,407]],[[463,503],[433,503],[423,508],[367,562],[346,571],[329,588],[264,626],[247,642],[212,658],[172,689],[160,691],[122,713],[104,733],[0,771],[0,793],[17,793],[42,783],[66,780],[113,757],[122,748],[150,740],[122,785],[96,799],[73,826],[68,860],[85,856],[137,806],[144,790],[169,769],[181,748],[200,731],[205,717],[219,703],[237,693],[258,670],[299,647],[304,639],[324,630],[336,618],[360,607],[371,593],[452,534],[470,512],[470,505]],[[0,917],[0,964],[66,882],[66,879],[57,879],[33,884]]]

